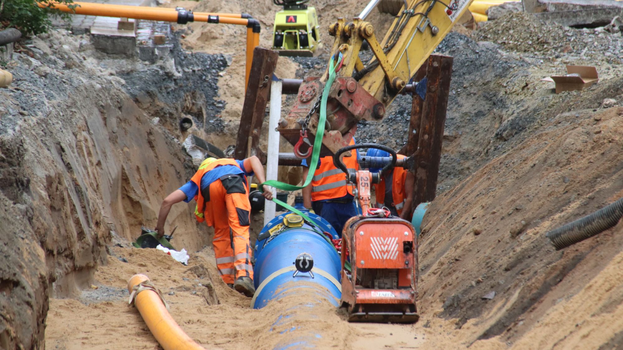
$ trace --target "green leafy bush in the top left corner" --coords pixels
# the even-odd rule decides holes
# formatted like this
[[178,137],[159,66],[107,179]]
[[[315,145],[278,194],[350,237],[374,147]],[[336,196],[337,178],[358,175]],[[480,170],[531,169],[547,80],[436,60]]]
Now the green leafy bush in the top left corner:
[[[54,2],[72,7],[73,0],[0,0],[0,22],[8,22],[9,27],[16,27],[22,34],[40,34],[47,32],[52,22],[50,16],[69,19],[69,13],[54,8]],[[39,7],[42,4],[45,7]],[[73,6],[75,7],[75,5]]]

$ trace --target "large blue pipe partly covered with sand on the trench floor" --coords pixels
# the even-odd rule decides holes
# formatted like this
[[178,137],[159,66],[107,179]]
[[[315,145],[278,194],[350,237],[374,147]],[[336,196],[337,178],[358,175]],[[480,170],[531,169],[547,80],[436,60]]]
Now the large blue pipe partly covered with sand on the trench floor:
[[[275,226],[282,225],[288,214],[292,212],[271,220],[259,237],[275,229]],[[321,319],[323,316],[316,315],[316,311],[326,309],[327,306],[339,306],[341,298],[340,255],[325,233],[333,239],[339,236],[325,219],[316,214],[306,214],[317,226],[308,222],[304,222],[301,227],[283,225],[270,237],[258,240],[255,244],[255,295],[251,307],[259,309],[270,301],[282,298],[292,300],[305,295],[300,298],[300,303],[297,300],[294,306],[284,310],[270,328],[275,333],[291,334],[278,343],[275,349],[317,348],[315,343],[322,336],[313,329],[306,329],[305,324],[310,319]],[[311,273],[298,272],[294,276],[297,272],[294,262],[302,253],[313,258],[313,268]]]

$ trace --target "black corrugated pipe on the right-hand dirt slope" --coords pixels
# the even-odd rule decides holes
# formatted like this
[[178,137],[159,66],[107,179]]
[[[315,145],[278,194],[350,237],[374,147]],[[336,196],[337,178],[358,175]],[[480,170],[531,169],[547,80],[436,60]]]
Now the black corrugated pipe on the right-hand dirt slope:
[[623,217],[623,198],[591,215],[551,230],[545,237],[551,240],[556,250],[559,250],[614,227],[621,217]]

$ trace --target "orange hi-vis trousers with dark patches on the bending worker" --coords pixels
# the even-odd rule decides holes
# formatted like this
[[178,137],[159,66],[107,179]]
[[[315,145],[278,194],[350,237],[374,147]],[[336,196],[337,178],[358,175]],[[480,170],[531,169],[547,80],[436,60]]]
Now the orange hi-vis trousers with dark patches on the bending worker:
[[[235,178],[237,177],[237,179]],[[242,181],[232,176],[232,181]],[[223,182],[226,182],[224,185]],[[231,181],[219,179],[210,184],[210,201],[207,208],[209,221],[214,226],[214,255],[219,274],[225,283],[234,283],[236,278],[253,279],[251,248],[249,246],[249,190],[246,186],[229,186]],[[226,189],[226,186],[229,187]],[[235,189],[234,189],[235,187]],[[240,193],[244,191],[245,193]]]

